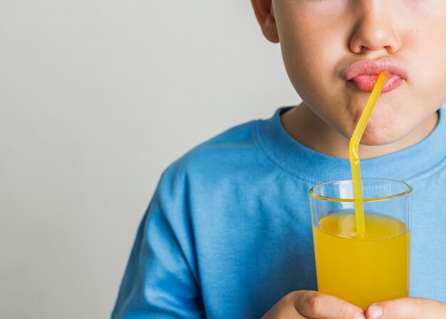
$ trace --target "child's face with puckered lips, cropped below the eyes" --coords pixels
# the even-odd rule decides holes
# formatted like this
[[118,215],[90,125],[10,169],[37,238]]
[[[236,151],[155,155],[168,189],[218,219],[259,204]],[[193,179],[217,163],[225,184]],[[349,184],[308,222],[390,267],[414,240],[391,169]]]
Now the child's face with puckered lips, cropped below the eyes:
[[363,136],[367,144],[406,136],[446,100],[445,0],[272,0],[272,7],[274,23],[264,32],[274,41],[276,29],[291,83],[343,136],[353,133],[370,74],[380,69],[391,75]]

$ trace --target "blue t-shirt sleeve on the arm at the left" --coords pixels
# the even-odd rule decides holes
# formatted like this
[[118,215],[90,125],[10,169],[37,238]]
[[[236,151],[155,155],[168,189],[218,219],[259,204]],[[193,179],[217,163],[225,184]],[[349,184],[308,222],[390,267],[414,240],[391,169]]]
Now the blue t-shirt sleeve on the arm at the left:
[[205,318],[183,182],[160,181],[140,223],[113,319]]

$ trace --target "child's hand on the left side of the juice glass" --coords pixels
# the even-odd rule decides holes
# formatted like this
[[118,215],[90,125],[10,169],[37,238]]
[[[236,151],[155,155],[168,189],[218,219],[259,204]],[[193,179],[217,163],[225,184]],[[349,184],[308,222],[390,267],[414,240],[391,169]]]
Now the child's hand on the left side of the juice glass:
[[365,319],[364,310],[344,300],[299,290],[281,298],[261,319]]

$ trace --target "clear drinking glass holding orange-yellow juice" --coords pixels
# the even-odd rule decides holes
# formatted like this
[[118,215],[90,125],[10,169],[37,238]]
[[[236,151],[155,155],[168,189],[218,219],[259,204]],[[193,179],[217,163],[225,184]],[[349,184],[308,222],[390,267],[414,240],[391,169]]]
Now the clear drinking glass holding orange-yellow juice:
[[356,234],[352,181],[310,190],[318,290],[366,308],[407,297],[412,188],[363,179],[365,236]]

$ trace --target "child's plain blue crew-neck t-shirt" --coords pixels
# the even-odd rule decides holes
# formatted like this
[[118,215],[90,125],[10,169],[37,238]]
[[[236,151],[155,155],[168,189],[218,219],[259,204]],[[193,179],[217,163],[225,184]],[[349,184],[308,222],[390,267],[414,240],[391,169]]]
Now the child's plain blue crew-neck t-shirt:
[[[287,293],[317,289],[308,190],[351,168],[291,138],[284,111],[212,138],[162,174],[113,318],[260,318]],[[446,302],[443,117],[420,143],[361,169],[413,186],[410,295]]]

